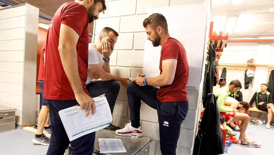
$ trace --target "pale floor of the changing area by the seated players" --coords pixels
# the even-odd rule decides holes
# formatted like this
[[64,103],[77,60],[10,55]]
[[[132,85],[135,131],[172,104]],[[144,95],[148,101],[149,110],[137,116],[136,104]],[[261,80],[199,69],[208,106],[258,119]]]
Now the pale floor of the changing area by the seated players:
[[[228,152],[224,155],[274,155],[274,126],[271,129],[266,129],[265,125],[252,125],[248,124],[246,136],[249,139],[259,141],[262,143],[260,148],[247,147],[246,145],[232,144],[228,147]],[[240,132],[237,133],[238,137]]]

